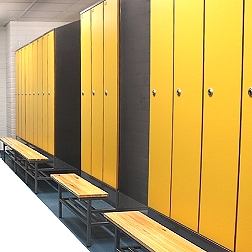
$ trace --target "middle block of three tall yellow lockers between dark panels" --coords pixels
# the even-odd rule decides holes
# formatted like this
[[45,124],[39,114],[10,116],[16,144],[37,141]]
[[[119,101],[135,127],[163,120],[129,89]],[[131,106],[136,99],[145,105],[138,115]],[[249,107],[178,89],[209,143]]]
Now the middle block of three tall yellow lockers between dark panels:
[[119,1],[81,13],[81,169],[118,187]]

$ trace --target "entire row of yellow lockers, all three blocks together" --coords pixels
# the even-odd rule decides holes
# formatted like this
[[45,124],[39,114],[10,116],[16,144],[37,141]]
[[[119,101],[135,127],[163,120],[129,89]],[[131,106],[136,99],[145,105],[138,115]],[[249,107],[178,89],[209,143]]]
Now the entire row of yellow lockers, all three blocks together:
[[[122,102],[133,104],[136,97],[120,99],[123,78],[132,74],[121,67],[129,43],[121,36],[126,13],[121,3],[100,1],[80,14],[81,71],[74,87],[71,81],[61,86],[55,77],[62,68],[53,52],[57,32],[16,53],[17,135],[57,156],[66,135],[79,132],[75,140],[68,138],[68,152],[76,150],[80,160],[76,167],[119,191],[120,151],[130,152],[121,141]],[[152,0],[149,9],[147,205],[231,251],[250,251],[252,3]],[[64,86],[70,86],[69,94],[75,90],[72,99],[60,95]],[[74,123],[64,119],[58,99],[79,105],[69,114],[78,114],[80,129],[64,132]]]

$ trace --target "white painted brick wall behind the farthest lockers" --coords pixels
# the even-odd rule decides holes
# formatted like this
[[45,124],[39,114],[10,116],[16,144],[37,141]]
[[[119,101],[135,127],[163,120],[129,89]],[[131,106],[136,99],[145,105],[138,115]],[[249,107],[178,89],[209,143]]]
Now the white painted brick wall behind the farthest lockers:
[[[3,31],[0,28],[0,136],[16,136],[15,51],[51,29],[64,24],[66,23],[11,21]],[[4,55],[3,58],[2,37],[6,41],[6,45],[3,47],[5,48],[3,54],[6,53],[6,56]]]

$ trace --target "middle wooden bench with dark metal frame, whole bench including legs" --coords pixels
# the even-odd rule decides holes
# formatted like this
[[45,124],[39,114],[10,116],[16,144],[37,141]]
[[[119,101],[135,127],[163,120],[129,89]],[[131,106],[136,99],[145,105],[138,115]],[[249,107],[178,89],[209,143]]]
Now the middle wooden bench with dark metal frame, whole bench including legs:
[[[106,208],[94,208],[92,201],[104,200],[108,197],[108,193],[75,173],[51,174],[51,177],[58,183],[59,218],[62,217],[62,204],[64,204],[86,224],[86,245],[91,246],[91,227],[93,225],[103,226],[109,224],[101,213],[115,210],[115,208],[108,206]],[[73,197],[63,197],[62,188],[70,192]]]

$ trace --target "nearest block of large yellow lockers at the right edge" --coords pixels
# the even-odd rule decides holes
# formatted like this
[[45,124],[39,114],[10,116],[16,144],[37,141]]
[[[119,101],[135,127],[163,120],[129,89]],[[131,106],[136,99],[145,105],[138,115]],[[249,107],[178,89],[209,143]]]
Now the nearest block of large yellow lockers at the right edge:
[[251,9],[151,1],[148,204],[232,251],[252,248]]

